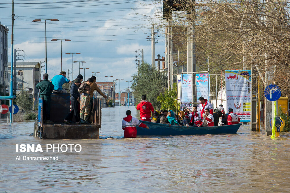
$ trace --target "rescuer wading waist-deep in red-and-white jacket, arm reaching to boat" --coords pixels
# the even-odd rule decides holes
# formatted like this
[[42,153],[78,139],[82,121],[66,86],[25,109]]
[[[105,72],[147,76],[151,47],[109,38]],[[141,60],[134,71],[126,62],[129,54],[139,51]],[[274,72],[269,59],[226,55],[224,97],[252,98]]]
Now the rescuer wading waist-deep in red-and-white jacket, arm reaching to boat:
[[135,117],[132,117],[131,111],[126,111],[127,117],[122,120],[122,129],[124,130],[124,138],[136,138],[137,137],[137,126],[149,129],[144,123],[141,123]]

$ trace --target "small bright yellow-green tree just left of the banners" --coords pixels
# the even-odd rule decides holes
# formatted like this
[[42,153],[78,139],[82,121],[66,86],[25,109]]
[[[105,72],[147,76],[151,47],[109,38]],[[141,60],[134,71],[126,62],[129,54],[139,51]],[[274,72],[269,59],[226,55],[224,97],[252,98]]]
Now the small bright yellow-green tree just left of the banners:
[[173,84],[173,89],[169,89],[160,93],[157,100],[161,103],[161,109],[173,110],[176,112],[176,83]]

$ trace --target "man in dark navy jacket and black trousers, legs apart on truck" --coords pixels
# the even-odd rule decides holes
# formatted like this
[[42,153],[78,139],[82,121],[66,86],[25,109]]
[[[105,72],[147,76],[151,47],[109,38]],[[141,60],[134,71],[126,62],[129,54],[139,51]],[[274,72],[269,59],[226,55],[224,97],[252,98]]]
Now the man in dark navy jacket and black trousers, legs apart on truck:
[[79,124],[79,85],[81,84],[81,80],[79,78],[75,79],[75,82],[72,83],[70,87],[70,103],[71,103],[71,110],[68,113],[68,116],[64,119],[65,124],[69,124],[73,120],[73,115],[75,115],[75,122]]

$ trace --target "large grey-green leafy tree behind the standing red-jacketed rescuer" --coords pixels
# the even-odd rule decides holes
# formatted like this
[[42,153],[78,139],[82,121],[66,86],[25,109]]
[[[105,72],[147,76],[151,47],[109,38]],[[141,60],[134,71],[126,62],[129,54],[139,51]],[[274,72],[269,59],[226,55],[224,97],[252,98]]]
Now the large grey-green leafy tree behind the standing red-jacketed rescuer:
[[167,89],[167,76],[162,75],[147,63],[140,64],[138,71],[133,76],[132,90],[137,103],[141,96],[146,95],[154,109],[160,109],[161,103],[157,100],[160,93]]

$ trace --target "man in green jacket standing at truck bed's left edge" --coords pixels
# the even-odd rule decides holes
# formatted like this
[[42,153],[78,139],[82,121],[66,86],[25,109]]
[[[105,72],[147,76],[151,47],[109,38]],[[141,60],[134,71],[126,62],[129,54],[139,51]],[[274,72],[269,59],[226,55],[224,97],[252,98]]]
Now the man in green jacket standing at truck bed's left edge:
[[43,105],[43,122],[44,123],[53,123],[50,121],[50,95],[54,86],[52,82],[48,81],[48,74],[43,75],[43,81],[39,82],[36,85],[36,88],[39,89],[40,98],[42,98]]

